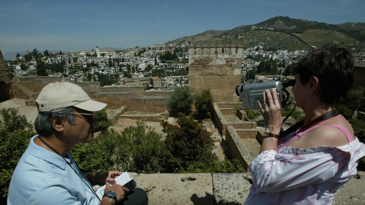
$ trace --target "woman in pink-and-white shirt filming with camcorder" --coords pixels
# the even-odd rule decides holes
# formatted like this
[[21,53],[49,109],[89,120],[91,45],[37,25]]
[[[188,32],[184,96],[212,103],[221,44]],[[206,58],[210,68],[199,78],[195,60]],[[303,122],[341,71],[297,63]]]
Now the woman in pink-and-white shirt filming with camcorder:
[[324,46],[293,67],[295,101],[306,115],[287,131],[281,132],[276,90],[263,93],[266,131],[249,167],[253,185],[245,204],[331,204],[356,174],[365,145],[335,108],[354,81],[353,62],[347,49]]

